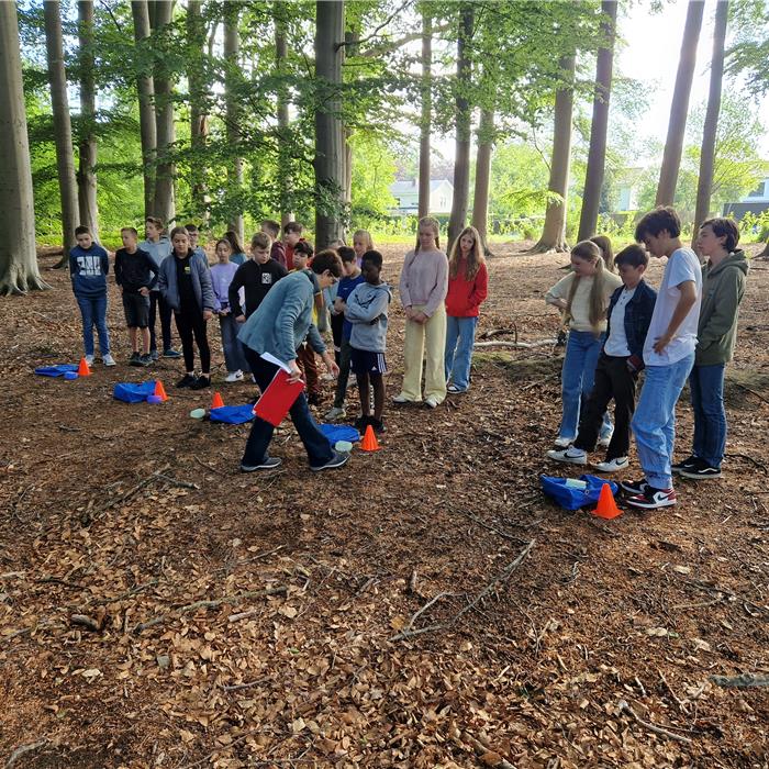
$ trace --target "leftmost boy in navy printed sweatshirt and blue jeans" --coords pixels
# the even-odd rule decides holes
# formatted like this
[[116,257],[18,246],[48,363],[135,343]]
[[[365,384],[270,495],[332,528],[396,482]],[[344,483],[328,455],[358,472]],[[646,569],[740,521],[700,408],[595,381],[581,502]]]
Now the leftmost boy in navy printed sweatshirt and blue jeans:
[[99,349],[104,366],[114,366],[110,354],[110,332],[107,330],[107,274],[110,258],[93,243],[91,231],[82,224],[75,227],[77,245],[69,252],[69,277],[82,316],[82,345],[86,363],[93,365],[93,326],[99,334]]

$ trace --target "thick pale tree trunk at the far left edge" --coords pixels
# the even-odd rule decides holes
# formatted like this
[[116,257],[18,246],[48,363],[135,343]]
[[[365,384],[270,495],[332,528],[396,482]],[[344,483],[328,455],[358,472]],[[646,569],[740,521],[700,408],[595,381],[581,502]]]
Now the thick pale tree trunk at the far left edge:
[[[75,189],[74,164],[70,170]],[[14,2],[0,2],[0,296],[48,288],[40,277],[35,252],[32,166]]]

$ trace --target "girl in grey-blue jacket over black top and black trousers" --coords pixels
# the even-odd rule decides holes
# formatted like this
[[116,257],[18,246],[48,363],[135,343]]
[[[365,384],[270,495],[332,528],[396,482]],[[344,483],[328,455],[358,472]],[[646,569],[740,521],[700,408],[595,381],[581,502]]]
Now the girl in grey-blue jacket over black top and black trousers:
[[[187,374],[176,386],[202,390],[211,384],[211,348],[205,333],[205,324],[214,309],[211,270],[208,261],[190,248],[185,227],[171,230],[171,255],[160,265],[158,287],[174,310],[185,355]],[[194,376],[193,337],[200,353],[200,377]]]

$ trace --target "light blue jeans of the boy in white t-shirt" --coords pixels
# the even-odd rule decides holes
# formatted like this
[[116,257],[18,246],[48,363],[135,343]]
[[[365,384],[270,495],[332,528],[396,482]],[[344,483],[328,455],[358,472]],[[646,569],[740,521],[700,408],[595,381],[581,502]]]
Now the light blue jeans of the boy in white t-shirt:
[[644,389],[633,417],[638,460],[649,486],[672,487],[676,403],[694,364],[694,353],[670,366],[647,366]]

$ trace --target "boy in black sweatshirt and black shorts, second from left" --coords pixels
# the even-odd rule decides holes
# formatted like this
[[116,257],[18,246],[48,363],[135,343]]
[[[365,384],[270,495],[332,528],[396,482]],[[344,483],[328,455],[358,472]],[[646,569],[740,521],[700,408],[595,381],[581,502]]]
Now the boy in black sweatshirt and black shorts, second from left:
[[132,366],[149,366],[153,361],[149,355],[149,292],[157,283],[157,267],[149,254],[138,248],[138,233],[134,227],[123,227],[120,236],[123,247],[115,254],[115,283],[123,289],[123,312],[133,350],[129,363]]

